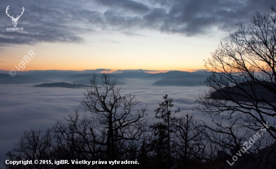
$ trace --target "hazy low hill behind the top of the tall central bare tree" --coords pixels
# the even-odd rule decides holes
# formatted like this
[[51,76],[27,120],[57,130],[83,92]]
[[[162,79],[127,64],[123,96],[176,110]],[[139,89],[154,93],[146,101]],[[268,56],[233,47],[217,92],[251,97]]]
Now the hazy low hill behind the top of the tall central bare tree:
[[[74,80],[72,83],[82,83],[82,84],[90,84],[90,78],[93,76],[93,74],[77,74],[71,77],[66,78],[65,80]],[[98,78],[100,79],[100,74],[97,75]],[[114,74],[109,74],[109,79],[111,81],[116,79],[116,85],[124,85],[126,82],[126,79],[120,77],[120,76],[116,76]]]

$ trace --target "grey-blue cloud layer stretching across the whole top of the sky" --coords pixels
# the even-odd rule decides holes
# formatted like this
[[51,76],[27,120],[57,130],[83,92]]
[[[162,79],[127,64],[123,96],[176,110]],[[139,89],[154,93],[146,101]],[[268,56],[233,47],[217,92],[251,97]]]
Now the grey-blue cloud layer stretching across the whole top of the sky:
[[[255,10],[270,12],[274,1],[220,0],[83,0],[0,2],[0,45],[36,44],[38,42],[84,42],[84,34],[100,30],[136,35],[142,29],[185,36],[215,34],[216,30],[234,31],[239,21],[248,23]],[[25,12],[17,27],[24,31],[8,31],[13,27],[11,15]],[[96,31],[97,30],[97,31]]]

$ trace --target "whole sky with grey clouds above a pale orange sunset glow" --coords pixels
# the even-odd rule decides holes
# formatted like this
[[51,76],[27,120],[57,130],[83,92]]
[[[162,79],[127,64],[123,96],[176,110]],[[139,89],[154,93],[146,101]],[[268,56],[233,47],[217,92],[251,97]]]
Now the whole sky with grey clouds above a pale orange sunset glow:
[[[0,69],[33,50],[25,70],[204,69],[220,43],[275,1],[2,0]],[[10,16],[24,13],[13,28]]]

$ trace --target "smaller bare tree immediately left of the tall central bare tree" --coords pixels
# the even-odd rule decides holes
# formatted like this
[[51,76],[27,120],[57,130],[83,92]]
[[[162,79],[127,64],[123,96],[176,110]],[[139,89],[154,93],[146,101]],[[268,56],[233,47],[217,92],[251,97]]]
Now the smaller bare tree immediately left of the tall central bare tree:
[[94,120],[87,115],[80,118],[78,111],[68,116],[67,123],[58,121],[52,129],[57,158],[98,160],[105,152],[105,138],[95,132]]

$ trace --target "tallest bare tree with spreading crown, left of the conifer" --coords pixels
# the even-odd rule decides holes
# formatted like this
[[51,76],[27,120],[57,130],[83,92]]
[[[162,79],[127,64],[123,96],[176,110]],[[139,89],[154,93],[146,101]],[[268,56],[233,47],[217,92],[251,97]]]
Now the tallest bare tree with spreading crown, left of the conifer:
[[135,95],[122,96],[120,88],[115,89],[116,81],[110,81],[108,74],[100,78],[100,83],[96,74],[90,79],[92,90],[87,90],[81,104],[91,113],[95,132],[105,138],[100,144],[106,147],[107,159],[114,160],[119,155],[137,151],[133,146],[140,144],[148,131],[147,108],[133,112],[132,109],[141,103],[135,100]]

